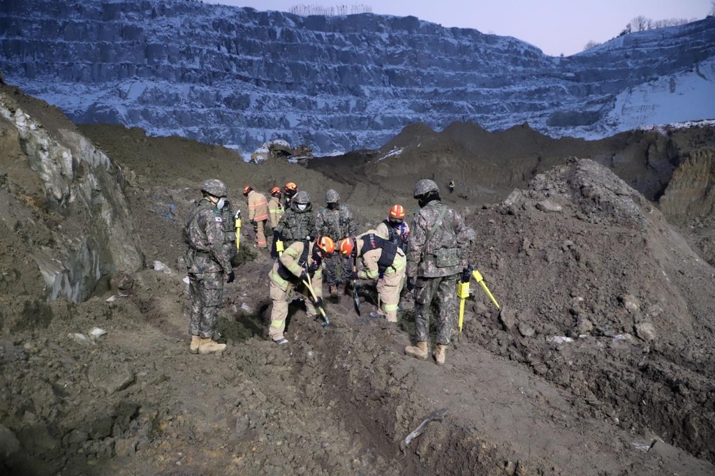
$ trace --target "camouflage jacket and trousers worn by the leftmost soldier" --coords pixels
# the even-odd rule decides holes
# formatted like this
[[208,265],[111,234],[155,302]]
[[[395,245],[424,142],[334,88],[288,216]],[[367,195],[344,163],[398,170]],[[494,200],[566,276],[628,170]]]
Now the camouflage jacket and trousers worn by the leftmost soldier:
[[[184,241],[188,245],[186,264],[191,298],[189,334],[212,339],[223,297],[224,273],[230,273],[232,268],[222,211],[209,199],[202,199],[189,213]],[[235,252],[235,242],[231,249]]]

